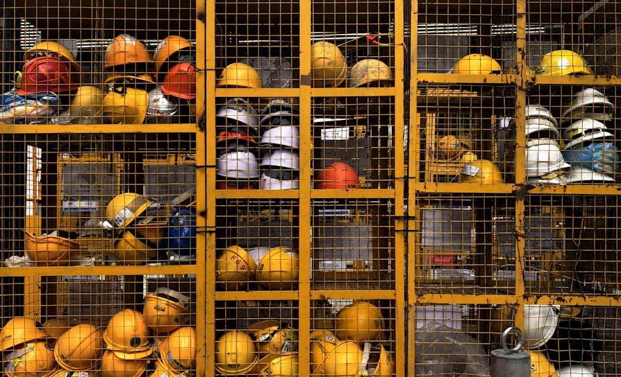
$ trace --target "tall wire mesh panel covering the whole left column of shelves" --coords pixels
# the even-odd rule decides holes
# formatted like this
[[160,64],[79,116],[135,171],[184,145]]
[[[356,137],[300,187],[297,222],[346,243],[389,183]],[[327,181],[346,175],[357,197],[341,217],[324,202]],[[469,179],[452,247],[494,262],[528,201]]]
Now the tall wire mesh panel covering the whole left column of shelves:
[[196,2],[0,12],[6,373],[196,374]]

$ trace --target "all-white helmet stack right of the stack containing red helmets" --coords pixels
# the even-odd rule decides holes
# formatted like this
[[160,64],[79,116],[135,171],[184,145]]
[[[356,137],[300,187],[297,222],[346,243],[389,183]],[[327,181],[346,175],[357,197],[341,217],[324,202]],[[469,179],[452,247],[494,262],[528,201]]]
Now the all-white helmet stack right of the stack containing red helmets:
[[299,189],[299,112],[284,100],[261,111],[259,189]]

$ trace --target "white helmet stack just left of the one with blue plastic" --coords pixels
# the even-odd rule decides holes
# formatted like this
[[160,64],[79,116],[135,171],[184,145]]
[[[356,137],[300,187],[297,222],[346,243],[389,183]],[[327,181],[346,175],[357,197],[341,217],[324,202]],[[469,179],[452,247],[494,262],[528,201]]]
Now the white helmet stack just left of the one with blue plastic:
[[540,105],[526,107],[526,169],[530,184],[567,184],[565,162],[558,145],[558,122],[549,109]]

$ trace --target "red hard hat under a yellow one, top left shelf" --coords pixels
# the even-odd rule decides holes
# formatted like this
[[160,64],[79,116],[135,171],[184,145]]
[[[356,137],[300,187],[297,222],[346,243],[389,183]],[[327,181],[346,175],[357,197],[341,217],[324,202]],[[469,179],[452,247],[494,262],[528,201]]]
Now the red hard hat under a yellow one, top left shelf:
[[22,67],[17,94],[52,91],[63,93],[78,89],[79,73],[72,73],[68,62],[51,56],[38,56],[28,60]]

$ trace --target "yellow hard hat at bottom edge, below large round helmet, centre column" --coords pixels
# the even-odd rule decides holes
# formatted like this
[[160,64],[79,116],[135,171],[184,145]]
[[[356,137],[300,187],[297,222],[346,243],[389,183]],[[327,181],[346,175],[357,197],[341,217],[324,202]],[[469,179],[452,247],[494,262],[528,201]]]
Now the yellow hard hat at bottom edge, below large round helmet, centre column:
[[338,342],[324,361],[313,371],[313,377],[357,377],[363,362],[363,351],[351,340]]

